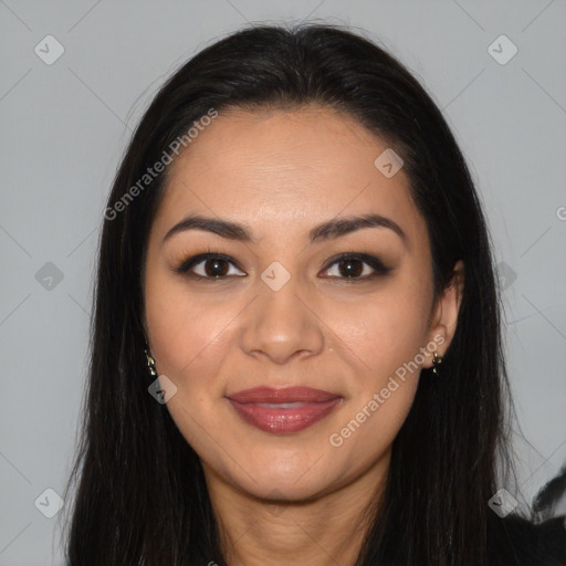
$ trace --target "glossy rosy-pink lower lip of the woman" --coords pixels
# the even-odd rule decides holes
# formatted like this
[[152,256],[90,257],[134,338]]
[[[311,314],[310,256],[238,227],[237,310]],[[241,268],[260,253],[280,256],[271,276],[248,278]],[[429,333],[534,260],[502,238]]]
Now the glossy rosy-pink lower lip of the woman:
[[264,407],[266,403],[238,402],[228,399],[241,419],[265,432],[298,432],[329,415],[340,397],[323,402],[305,402],[297,407]]

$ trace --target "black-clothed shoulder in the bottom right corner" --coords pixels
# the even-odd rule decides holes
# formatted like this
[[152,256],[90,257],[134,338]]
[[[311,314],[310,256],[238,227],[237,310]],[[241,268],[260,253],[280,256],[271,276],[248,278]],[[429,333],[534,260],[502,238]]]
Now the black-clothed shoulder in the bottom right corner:
[[497,517],[492,531],[492,555],[496,564],[517,566],[566,566],[566,516],[532,523],[515,514]]

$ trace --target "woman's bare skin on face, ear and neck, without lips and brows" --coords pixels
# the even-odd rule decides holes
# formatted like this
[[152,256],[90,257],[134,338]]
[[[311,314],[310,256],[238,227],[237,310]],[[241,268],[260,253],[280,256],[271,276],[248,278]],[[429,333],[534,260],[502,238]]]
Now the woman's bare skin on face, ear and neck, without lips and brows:
[[[454,334],[463,265],[433,304],[429,239],[409,179],[374,166],[387,147],[329,108],[232,111],[169,167],[149,234],[145,326],[158,374],[177,386],[167,408],[202,461],[231,566],[355,564],[364,510],[379,499],[420,367],[432,365],[427,344],[437,337],[443,355]],[[314,226],[368,212],[397,222],[406,242],[388,228],[363,228],[310,243]],[[256,241],[189,230],[164,243],[189,213],[247,224]],[[233,260],[222,264],[223,281],[175,272],[209,250]],[[360,281],[348,282],[344,264],[328,263],[342,252],[366,252],[392,271],[363,281],[374,269],[354,262]],[[291,275],[279,291],[261,279],[274,261]],[[205,276],[206,266],[192,272]],[[419,369],[333,446],[331,434],[420,348]],[[226,398],[260,385],[306,385],[343,401],[303,431],[269,433]]]

